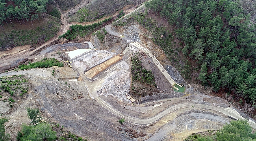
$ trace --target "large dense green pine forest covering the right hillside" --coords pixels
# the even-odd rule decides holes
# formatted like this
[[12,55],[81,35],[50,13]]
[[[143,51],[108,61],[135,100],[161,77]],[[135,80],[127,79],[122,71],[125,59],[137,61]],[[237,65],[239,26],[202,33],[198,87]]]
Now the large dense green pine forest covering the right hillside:
[[151,0],[146,7],[175,28],[198,80],[256,103],[256,25],[232,0]]

